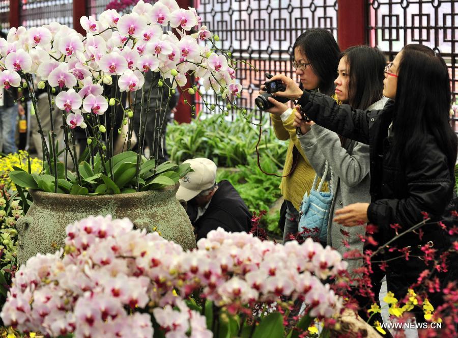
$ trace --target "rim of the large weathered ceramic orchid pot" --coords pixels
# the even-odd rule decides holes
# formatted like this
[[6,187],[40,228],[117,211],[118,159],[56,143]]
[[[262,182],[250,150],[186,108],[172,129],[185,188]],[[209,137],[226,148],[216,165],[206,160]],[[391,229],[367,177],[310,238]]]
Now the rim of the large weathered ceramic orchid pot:
[[98,199],[98,200],[118,200],[118,199],[126,199],[126,198],[141,198],[143,196],[154,194],[155,192],[169,192],[173,190],[178,190],[180,187],[180,183],[176,183],[175,185],[167,185],[163,188],[156,189],[156,190],[147,190],[147,191],[138,191],[138,192],[130,192],[130,193],[116,193],[116,194],[105,194],[105,195],[71,195],[69,193],[59,193],[59,192],[46,192],[39,189],[29,189],[29,192],[40,196],[41,198],[59,198],[64,200],[88,200],[88,199]]

